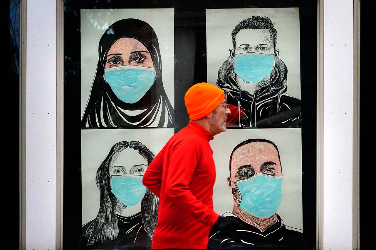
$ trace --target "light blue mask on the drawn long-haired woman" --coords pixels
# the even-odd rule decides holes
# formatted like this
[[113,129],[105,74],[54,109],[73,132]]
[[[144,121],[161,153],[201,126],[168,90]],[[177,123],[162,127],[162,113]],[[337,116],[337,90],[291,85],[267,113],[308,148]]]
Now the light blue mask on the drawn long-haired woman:
[[127,207],[136,205],[144,197],[146,187],[142,184],[143,175],[111,175],[111,190]]

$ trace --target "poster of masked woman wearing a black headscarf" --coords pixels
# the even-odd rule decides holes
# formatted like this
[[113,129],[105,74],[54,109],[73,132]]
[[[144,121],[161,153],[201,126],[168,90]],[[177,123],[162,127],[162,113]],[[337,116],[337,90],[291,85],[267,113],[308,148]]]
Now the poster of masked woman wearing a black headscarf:
[[81,9],[81,127],[173,127],[173,9]]

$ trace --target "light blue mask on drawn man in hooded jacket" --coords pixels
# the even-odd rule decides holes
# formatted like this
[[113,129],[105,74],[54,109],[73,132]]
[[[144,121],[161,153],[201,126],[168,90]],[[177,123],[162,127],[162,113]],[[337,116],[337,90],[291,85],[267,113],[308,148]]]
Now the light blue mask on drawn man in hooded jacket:
[[234,71],[245,82],[261,82],[274,68],[274,55],[242,53],[234,57]]

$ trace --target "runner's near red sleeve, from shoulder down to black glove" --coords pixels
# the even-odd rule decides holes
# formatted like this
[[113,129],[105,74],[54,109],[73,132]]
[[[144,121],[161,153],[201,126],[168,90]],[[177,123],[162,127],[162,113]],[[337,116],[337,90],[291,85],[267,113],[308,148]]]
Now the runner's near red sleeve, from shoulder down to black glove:
[[186,216],[212,226],[219,215],[199,201],[189,189],[200,157],[199,146],[194,143],[184,141],[173,148],[168,164],[165,198],[179,206]]

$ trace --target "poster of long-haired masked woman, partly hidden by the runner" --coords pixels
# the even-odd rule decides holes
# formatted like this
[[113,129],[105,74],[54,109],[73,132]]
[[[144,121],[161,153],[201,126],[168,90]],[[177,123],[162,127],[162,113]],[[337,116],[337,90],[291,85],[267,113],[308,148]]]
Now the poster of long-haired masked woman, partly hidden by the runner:
[[173,134],[173,129],[81,130],[83,245],[150,248],[158,198],[142,177]]

